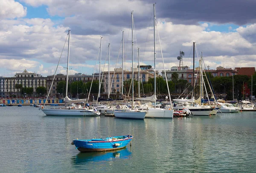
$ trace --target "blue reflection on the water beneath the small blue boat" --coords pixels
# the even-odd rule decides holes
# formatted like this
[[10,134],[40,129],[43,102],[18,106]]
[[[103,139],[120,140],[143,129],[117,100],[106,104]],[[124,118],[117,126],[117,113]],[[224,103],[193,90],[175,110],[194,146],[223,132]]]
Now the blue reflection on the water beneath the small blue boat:
[[73,164],[84,164],[87,162],[111,161],[114,159],[129,159],[131,152],[128,149],[108,152],[78,153],[72,157]]

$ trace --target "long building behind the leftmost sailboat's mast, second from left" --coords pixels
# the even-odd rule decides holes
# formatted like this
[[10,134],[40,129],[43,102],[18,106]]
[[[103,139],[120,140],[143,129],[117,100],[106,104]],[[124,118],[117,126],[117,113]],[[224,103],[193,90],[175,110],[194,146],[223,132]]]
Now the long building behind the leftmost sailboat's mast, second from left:
[[[47,95],[50,92],[50,87],[52,85],[52,89],[51,89],[49,96],[51,98],[63,98],[65,95],[57,92],[57,85],[58,85],[58,82],[60,82],[60,81],[67,81],[67,75],[63,75],[63,74],[59,73],[55,76],[54,81],[53,81],[53,77],[54,77],[54,75],[49,75],[46,77],[47,78],[47,81],[46,81]],[[93,81],[99,80],[99,73],[95,73],[94,78],[93,78],[93,74],[92,75],[84,75],[81,73],[76,73],[75,75],[68,75],[68,78],[69,78],[68,81],[70,83],[72,83],[74,81],[83,81],[84,83],[86,83],[88,81],[92,81],[92,79],[93,79]],[[65,94],[65,91],[64,91],[64,94]]]

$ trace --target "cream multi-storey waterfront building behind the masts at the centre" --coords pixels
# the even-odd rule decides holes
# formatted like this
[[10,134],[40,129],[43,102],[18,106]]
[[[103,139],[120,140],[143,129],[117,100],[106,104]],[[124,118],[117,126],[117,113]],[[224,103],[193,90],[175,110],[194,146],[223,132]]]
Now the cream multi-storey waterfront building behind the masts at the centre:
[[[138,68],[134,68],[134,80],[138,81]],[[158,71],[156,71],[157,76]],[[110,84],[111,93],[122,93],[122,68],[114,69],[110,72]],[[104,93],[108,93],[108,71],[104,72],[103,78],[105,79]],[[124,81],[130,80],[132,78],[132,68],[131,70],[124,70]],[[154,78],[154,69],[152,66],[140,66],[140,82],[147,82],[148,79]],[[113,83],[112,83],[113,80]]]

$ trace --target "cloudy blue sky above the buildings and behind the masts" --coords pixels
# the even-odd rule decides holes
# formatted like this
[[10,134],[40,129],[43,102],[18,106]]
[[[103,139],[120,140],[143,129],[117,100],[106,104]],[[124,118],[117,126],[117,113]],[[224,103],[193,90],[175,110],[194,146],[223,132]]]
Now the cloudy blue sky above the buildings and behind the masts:
[[[154,17],[156,12],[156,65]],[[134,67],[163,70],[183,65],[193,68],[203,52],[205,66],[216,69],[256,66],[255,0],[0,0],[0,76],[13,77],[26,69],[43,76],[66,74],[67,33],[70,34],[70,74],[122,67],[131,70],[131,11],[134,15]],[[62,52],[63,50],[63,52]],[[62,54],[61,54],[62,52]]]

